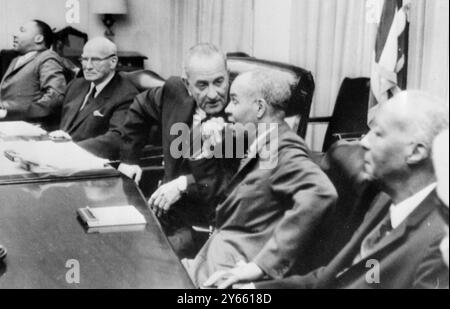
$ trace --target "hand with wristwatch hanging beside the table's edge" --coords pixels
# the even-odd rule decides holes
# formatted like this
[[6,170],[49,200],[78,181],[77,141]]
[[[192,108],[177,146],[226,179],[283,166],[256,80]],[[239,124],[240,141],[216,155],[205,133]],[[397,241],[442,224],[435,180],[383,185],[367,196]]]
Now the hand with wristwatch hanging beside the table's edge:
[[155,215],[160,218],[167,214],[173,204],[178,202],[181,195],[186,191],[186,177],[179,177],[158,188],[148,201],[149,207]]

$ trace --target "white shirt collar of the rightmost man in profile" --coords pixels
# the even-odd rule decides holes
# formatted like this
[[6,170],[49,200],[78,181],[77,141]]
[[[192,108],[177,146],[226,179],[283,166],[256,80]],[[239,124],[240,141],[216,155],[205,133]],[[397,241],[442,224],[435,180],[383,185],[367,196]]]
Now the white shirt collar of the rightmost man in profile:
[[399,227],[435,188],[436,183],[433,183],[403,202],[398,203],[397,205],[392,204],[389,209],[392,228],[396,229]]

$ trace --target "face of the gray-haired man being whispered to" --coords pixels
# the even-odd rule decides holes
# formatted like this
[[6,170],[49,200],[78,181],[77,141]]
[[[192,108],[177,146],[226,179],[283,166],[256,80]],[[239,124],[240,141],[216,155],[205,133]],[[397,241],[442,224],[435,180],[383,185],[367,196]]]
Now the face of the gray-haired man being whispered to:
[[249,91],[249,75],[238,76],[230,89],[230,103],[225,112],[228,120],[242,125],[258,122],[256,99]]

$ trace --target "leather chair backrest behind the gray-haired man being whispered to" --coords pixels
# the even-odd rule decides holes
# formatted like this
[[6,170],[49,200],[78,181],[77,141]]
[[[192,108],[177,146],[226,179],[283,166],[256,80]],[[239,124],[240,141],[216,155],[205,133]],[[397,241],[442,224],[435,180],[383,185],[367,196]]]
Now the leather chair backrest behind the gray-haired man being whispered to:
[[233,81],[237,75],[255,69],[269,68],[287,72],[294,77],[292,97],[289,101],[287,117],[298,117],[298,127],[295,128],[301,137],[306,136],[311,102],[314,95],[314,78],[311,72],[302,68],[274,61],[261,60],[252,57],[229,57],[228,69],[230,79]]

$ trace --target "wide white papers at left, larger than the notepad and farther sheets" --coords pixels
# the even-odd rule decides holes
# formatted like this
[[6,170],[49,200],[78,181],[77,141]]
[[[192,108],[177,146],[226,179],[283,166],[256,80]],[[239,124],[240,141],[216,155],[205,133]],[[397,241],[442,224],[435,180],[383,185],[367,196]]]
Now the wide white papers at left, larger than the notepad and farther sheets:
[[[14,154],[31,163],[32,172],[89,171],[105,169],[108,160],[98,158],[73,142],[16,141],[0,143],[0,155]],[[4,161],[2,159],[2,161]]]

